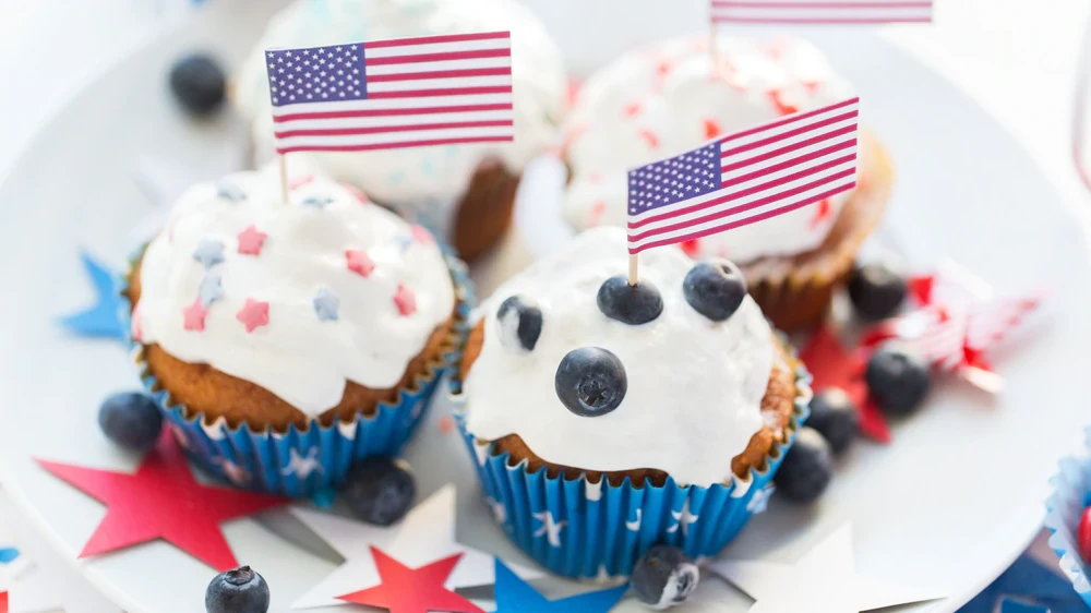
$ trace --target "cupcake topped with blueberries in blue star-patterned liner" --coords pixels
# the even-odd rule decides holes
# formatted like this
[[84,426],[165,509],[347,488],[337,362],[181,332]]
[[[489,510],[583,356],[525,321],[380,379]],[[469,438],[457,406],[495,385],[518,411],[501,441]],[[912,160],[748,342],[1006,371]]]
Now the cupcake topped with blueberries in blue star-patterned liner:
[[570,577],[659,543],[716,555],[767,495],[807,375],[726,261],[588,230],[500,288],[453,377],[456,418],[513,540]]

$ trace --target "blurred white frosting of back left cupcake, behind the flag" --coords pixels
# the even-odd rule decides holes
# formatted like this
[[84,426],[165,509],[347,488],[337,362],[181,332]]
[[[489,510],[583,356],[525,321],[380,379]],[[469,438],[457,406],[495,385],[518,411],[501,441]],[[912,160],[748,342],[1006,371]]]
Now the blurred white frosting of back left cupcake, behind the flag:
[[502,29],[512,32],[513,93],[482,95],[478,103],[513,104],[514,142],[292,154],[292,159],[313,157],[325,173],[395,205],[456,202],[488,158],[517,175],[559,142],[567,81],[561,53],[541,22],[509,0],[297,0],[269,21],[235,84],[236,103],[253,121],[259,161],[275,151],[265,49]]

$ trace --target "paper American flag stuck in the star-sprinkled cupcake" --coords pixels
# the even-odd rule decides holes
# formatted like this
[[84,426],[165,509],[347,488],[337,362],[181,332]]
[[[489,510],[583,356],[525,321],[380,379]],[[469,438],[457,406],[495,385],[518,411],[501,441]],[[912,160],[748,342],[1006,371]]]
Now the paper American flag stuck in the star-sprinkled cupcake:
[[265,52],[277,153],[514,139],[507,32]]

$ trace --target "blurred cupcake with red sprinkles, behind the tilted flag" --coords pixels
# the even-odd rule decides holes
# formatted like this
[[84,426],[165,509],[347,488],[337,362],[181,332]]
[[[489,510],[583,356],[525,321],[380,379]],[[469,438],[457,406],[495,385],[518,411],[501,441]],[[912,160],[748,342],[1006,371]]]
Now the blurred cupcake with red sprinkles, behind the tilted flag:
[[[721,36],[660,43],[626,55],[584,84],[565,125],[564,203],[577,229],[625,225],[626,170],[796,111],[854,96],[811,44]],[[832,291],[878,224],[892,182],[879,143],[863,133],[858,188],[812,206],[683,243],[695,257],[730,257],[777,327],[825,315]]]

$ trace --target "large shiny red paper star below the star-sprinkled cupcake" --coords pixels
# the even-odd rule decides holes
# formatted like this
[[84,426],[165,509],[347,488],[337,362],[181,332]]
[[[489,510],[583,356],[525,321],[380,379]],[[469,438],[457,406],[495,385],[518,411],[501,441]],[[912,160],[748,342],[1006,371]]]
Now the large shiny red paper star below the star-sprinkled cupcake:
[[37,461],[56,477],[106,504],[106,517],[80,557],[164,539],[217,570],[228,570],[239,563],[219,525],[288,502],[197,483],[178,442],[166,428],[157,446],[144,456],[132,474]]

